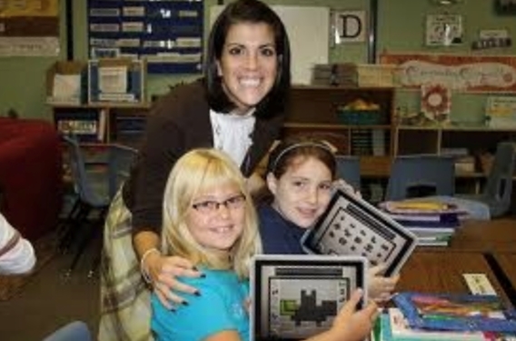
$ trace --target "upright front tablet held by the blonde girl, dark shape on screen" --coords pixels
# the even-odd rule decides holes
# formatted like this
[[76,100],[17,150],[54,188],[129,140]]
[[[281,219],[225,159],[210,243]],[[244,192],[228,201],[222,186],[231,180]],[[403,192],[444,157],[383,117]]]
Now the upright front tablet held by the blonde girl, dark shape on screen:
[[251,339],[302,340],[332,326],[358,287],[366,302],[361,256],[260,255],[251,272]]

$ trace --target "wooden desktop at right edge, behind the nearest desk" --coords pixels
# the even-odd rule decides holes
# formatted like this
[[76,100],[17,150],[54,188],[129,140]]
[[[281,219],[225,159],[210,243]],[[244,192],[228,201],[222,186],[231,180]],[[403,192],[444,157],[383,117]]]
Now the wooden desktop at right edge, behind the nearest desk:
[[450,249],[516,253],[516,220],[465,221],[444,251]]

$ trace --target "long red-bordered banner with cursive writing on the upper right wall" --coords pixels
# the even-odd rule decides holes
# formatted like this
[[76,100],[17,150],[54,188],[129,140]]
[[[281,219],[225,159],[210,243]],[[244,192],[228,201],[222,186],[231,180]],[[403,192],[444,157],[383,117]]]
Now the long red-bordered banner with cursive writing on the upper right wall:
[[397,65],[398,86],[420,89],[440,84],[458,92],[516,93],[514,55],[382,54],[381,64]]

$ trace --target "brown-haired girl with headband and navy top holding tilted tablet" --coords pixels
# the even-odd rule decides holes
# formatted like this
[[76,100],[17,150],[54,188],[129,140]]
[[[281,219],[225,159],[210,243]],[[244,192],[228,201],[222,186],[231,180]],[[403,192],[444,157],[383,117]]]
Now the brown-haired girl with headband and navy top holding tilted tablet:
[[[304,254],[301,237],[330,203],[336,161],[332,147],[321,140],[294,136],[277,145],[267,165],[272,203],[259,207],[260,234],[265,254]],[[344,188],[350,190],[348,188]],[[369,270],[369,297],[388,300],[399,276],[381,276],[383,266]]]

